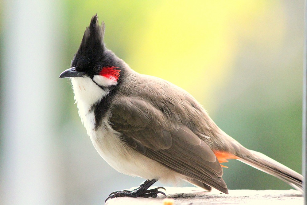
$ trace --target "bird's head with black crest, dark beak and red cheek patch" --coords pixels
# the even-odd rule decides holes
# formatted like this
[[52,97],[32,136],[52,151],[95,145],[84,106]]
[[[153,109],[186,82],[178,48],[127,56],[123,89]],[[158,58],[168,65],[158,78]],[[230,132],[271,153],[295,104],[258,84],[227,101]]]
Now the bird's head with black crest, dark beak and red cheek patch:
[[101,89],[117,85],[121,75],[121,63],[120,59],[106,48],[103,42],[104,31],[104,22],[99,26],[95,14],[84,32],[80,47],[72,59],[71,68],[61,73],[60,78],[91,79]]

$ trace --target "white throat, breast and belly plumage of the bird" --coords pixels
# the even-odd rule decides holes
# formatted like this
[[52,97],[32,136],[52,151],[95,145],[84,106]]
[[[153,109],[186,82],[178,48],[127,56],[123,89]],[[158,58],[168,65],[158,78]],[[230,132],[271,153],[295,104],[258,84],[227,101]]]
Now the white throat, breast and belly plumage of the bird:
[[[106,79],[94,77],[96,83],[109,83]],[[120,133],[113,130],[108,118],[102,120],[102,126],[95,129],[94,112],[89,112],[92,104],[107,96],[109,91],[99,88],[89,77],[72,78],[72,87],[75,93],[79,116],[90,136],[91,141],[99,155],[117,171],[139,176],[144,179],[160,179],[162,181],[176,182],[184,177],[158,162],[138,153],[120,139]],[[108,84],[110,85],[110,84]]]

